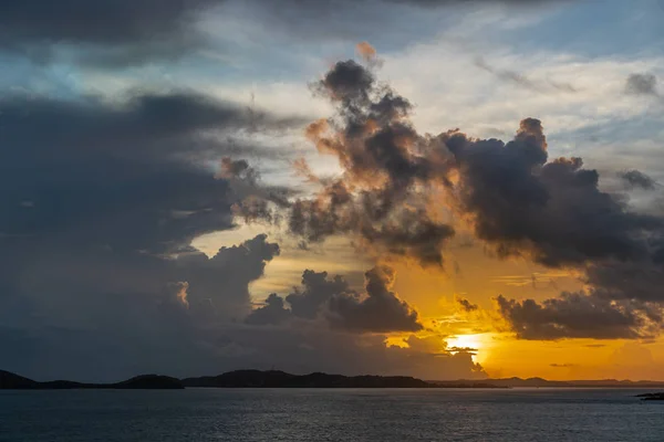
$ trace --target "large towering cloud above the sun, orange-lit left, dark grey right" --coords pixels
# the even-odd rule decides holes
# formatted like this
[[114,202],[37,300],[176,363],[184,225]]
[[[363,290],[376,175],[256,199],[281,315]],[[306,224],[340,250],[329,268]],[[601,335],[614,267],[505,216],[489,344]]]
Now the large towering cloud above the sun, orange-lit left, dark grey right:
[[539,119],[525,118],[507,143],[458,130],[423,136],[409,102],[353,61],[336,63],[315,91],[338,115],[307,135],[343,175],[293,203],[290,230],[309,241],[351,233],[376,251],[443,264],[452,211],[501,256],[563,266],[647,259],[649,236],[663,227],[600,190],[581,158],[549,160]]

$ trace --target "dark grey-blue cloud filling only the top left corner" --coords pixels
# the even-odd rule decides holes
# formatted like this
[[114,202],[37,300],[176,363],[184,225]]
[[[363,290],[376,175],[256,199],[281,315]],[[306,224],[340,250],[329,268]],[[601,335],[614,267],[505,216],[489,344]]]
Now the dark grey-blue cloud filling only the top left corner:
[[200,43],[195,22],[222,0],[27,0],[0,7],[0,48],[48,60],[56,45],[77,46],[83,59],[142,63]]

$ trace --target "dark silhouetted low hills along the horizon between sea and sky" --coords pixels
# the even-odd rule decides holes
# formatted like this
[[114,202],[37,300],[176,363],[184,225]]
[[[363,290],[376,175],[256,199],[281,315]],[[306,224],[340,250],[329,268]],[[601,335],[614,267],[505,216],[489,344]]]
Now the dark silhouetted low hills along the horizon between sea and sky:
[[572,380],[551,381],[541,378],[507,378],[483,380],[436,381],[406,376],[343,376],[313,372],[291,375],[276,370],[236,370],[219,376],[177,379],[159,375],[142,375],[122,382],[85,383],[70,380],[35,381],[0,370],[0,390],[71,390],[71,389],[149,389],[181,390],[185,388],[398,388],[398,389],[507,389],[507,388],[664,388],[661,381]]

